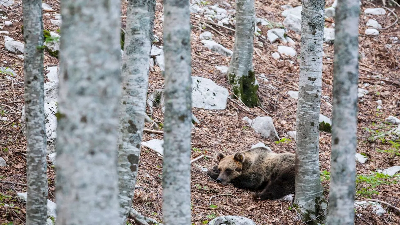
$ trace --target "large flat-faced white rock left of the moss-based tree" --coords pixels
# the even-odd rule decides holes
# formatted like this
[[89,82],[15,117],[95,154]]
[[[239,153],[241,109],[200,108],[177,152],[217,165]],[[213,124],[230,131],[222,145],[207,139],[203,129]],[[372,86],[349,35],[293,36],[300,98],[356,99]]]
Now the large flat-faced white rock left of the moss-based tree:
[[214,81],[192,76],[192,107],[204,109],[225,109],[228,90]]

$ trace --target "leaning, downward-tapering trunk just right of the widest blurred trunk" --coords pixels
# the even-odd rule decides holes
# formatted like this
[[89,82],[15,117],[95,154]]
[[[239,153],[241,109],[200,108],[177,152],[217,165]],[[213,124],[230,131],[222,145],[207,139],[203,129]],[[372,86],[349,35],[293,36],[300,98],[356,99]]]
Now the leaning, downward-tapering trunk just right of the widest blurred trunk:
[[130,0],[126,13],[118,143],[120,225],[126,225],[138,173],[155,6],[155,0]]

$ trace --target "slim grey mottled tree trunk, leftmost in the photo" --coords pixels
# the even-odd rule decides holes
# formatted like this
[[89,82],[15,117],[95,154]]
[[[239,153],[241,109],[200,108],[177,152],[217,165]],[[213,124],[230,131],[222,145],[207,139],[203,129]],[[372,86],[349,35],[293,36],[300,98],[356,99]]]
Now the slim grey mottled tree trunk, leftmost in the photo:
[[26,224],[43,225],[47,219],[46,126],[43,91],[42,1],[24,0],[24,99],[26,121]]

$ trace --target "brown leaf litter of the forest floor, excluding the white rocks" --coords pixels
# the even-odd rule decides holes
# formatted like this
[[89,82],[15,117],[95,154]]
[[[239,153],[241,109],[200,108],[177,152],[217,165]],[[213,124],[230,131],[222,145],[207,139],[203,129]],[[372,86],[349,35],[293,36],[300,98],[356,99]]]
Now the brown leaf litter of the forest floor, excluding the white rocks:
[[[58,0],[43,1],[48,3],[55,10],[54,12],[44,12],[44,28],[56,31],[57,26],[50,22],[54,14],[60,13]],[[126,14],[126,2],[122,1],[122,15]],[[223,4],[222,0],[210,0],[210,5],[220,4],[220,7],[232,9]],[[229,2],[229,1],[228,1]],[[284,10],[280,6],[290,4],[293,7],[301,5],[297,0],[256,0],[257,17],[266,18],[272,22],[282,22],[283,17],[280,13]],[[326,7],[331,6],[333,0],[326,1]],[[384,119],[392,115],[400,116],[400,70],[399,42],[393,44],[390,37],[400,38],[399,23],[386,29],[380,30],[378,36],[366,36],[364,34],[366,22],[370,18],[375,18],[386,27],[394,22],[392,15],[370,16],[362,13],[365,8],[375,8],[381,6],[380,1],[362,2],[360,13],[359,43],[360,43],[360,74],[359,87],[369,91],[368,94],[359,98],[358,101],[358,146],[357,152],[368,156],[365,164],[357,163],[357,174],[360,182],[357,186],[356,199],[379,199],[399,207],[400,205],[400,184],[396,183],[396,178],[377,178],[371,172],[377,169],[399,165],[400,143],[387,136],[383,139],[370,141],[374,135],[388,131],[394,127],[392,124],[384,123]],[[1,6],[0,6],[1,9]],[[11,7],[2,7],[7,12],[8,19],[13,21],[13,26],[4,26],[3,30],[10,32],[8,36],[23,42],[22,26],[22,0],[15,0]],[[399,8],[395,10],[400,15]],[[157,0],[156,18],[154,34],[160,38],[162,43],[162,1]],[[204,32],[202,25],[198,26],[199,21],[206,21],[206,18],[196,18],[191,15],[192,28],[192,75],[202,76],[212,79],[220,86],[230,90],[226,77],[215,66],[228,66],[229,57],[214,53],[205,48],[200,42],[199,35]],[[126,19],[122,19],[122,27],[126,26]],[[230,26],[230,25],[227,25]],[[218,26],[206,27],[205,30],[214,34],[214,40],[226,48],[233,49],[234,32]],[[231,28],[234,28],[230,26]],[[326,21],[326,27],[332,28],[332,22]],[[266,26],[259,26],[262,35],[266,36]],[[224,34],[226,37],[222,36]],[[291,46],[300,54],[300,35],[292,31],[288,32],[295,44]],[[25,204],[16,197],[17,192],[26,192],[26,139],[21,133],[18,120],[21,116],[24,104],[24,61],[16,54],[7,52],[4,49],[4,38],[0,38],[0,66],[9,67],[17,74],[16,80],[8,80],[0,74],[0,156],[5,159],[7,166],[0,167],[0,225],[25,224]],[[192,131],[192,159],[200,155],[214,157],[222,151],[232,154],[236,151],[249,149],[252,145],[263,142],[277,153],[294,153],[295,141],[288,137],[288,131],[296,129],[296,99],[290,98],[287,94],[289,90],[298,90],[299,77],[299,58],[283,56],[282,61],[272,58],[271,53],[276,51],[278,43],[270,44],[266,39],[256,38],[263,42],[263,46],[255,40],[254,70],[256,76],[265,74],[266,80],[258,79],[259,98],[265,110],[261,108],[247,109],[242,104],[228,100],[225,110],[203,110],[193,108],[193,113],[200,121]],[[388,48],[387,44],[392,45]],[[289,45],[289,44],[286,44]],[[334,47],[324,43],[323,74],[322,74],[322,96],[321,113],[327,117],[332,117],[332,80],[333,80],[333,57]],[[294,61],[293,64],[290,63]],[[56,66],[58,59],[45,54],[44,66]],[[369,83],[368,86],[366,83]],[[148,92],[152,92],[164,85],[164,78],[158,66],[149,75]],[[377,100],[382,100],[383,108],[377,110]],[[254,119],[257,116],[270,116],[274,121],[276,131],[280,138],[286,137],[292,141],[274,143],[263,139],[248,127],[247,122],[242,121],[243,117]],[[155,122],[162,129],[163,114],[156,110],[152,116]],[[150,128],[151,124],[146,123],[145,128]],[[152,127],[152,129],[154,129]],[[162,135],[144,133],[143,140],[162,139]],[[390,140],[393,139],[390,142]],[[331,135],[320,133],[320,170],[324,171],[322,184],[324,193],[328,198],[329,177],[325,171],[330,171],[330,149]],[[203,167],[210,168],[216,165],[211,159],[202,158],[192,163],[192,223],[196,225],[206,224],[214,217],[222,215],[239,215],[248,217],[256,224],[302,224],[296,219],[296,212],[291,210],[288,201],[253,201],[252,193],[246,190],[234,188],[232,185],[221,186],[212,181]],[[204,168],[203,168],[204,169]],[[140,155],[140,166],[136,183],[135,198],[133,206],[136,210],[147,217],[162,221],[162,157],[157,156],[154,151],[142,147]],[[48,167],[48,187],[49,199],[55,201],[55,170],[53,166]],[[231,195],[218,196],[225,193]],[[232,197],[233,196],[233,197]],[[12,207],[5,207],[4,204],[13,204]],[[215,207],[217,206],[217,207]],[[398,215],[382,205],[386,213],[378,216],[372,212],[371,208],[357,209],[355,223],[357,225],[380,225],[380,224],[400,224]],[[130,220],[134,223],[133,220]]]

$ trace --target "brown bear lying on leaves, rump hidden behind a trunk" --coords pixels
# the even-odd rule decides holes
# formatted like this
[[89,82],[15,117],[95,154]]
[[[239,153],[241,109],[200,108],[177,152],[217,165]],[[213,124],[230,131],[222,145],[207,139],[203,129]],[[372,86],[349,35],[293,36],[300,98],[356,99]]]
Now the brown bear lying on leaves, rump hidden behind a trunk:
[[269,148],[258,147],[226,156],[218,153],[218,167],[208,171],[208,176],[218,183],[233,183],[234,187],[261,191],[254,199],[280,199],[294,193],[295,155],[273,153]]

